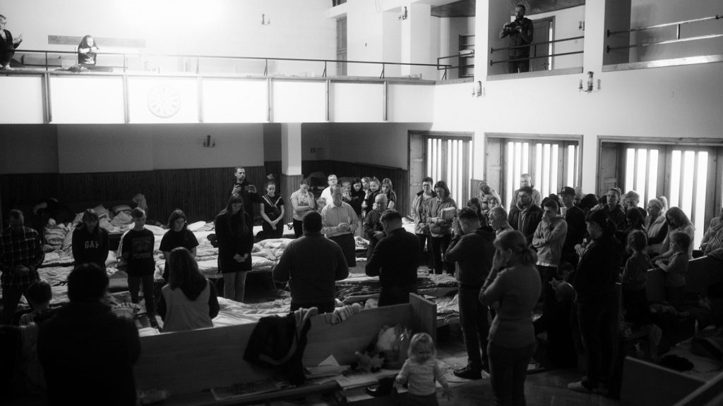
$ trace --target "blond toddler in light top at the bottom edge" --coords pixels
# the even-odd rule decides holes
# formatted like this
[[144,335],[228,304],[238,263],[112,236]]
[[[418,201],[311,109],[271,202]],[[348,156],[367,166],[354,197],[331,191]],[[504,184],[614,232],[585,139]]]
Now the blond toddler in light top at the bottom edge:
[[396,382],[400,385],[408,384],[409,405],[438,405],[435,379],[440,381],[444,388],[442,396],[450,399],[452,389],[437,364],[437,351],[432,337],[427,333],[414,334],[409,343],[408,355],[409,358],[399,371]]

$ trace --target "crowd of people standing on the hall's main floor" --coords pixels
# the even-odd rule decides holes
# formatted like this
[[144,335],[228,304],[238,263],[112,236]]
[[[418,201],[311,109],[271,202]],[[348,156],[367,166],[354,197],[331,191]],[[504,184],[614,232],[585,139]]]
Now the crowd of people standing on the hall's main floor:
[[[255,237],[278,238],[283,235],[285,204],[273,180],[259,194],[244,168],[236,168],[235,177],[214,228],[223,297],[242,302],[252,266],[253,205],[257,204],[262,219],[262,232]],[[598,197],[566,186],[543,198],[527,174],[521,176],[509,210],[487,183],[482,182],[479,194],[460,208],[445,181],[424,178],[422,190],[411,202],[414,233],[403,228],[404,216],[393,208],[396,196],[386,178],[355,178],[338,185],[338,178],[330,175],[319,199],[309,190],[309,181],[302,180],[289,200],[296,238],[288,243],[273,278],[288,282],[292,311],[309,307],[334,311],[335,281],[348,277],[349,268],[356,265],[354,236],[369,240],[365,272],[380,279],[378,306],[408,303],[420,264],[427,264],[430,273],[454,275],[468,354],[467,365],[454,374],[481,379],[482,371],[491,373],[499,405],[523,402],[526,368],[539,332],[547,332],[547,355],[557,366],[576,363],[573,342],[582,343],[586,375],[570,383],[570,389],[589,393],[604,389],[617,340],[617,330],[611,328],[618,317],[613,312],[616,282],[622,284],[625,319],[636,326],[649,324],[646,272],[654,267],[665,272],[667,301],[679,306],[693,251],[693,225],[679,207],[667,207],[664,197],[651,199],[647,210],[639,207],[635,191],[623,194],[617,188]],[[131,217],[133,228],[122,238],[120,255],[132,302],[140,301],[142,290],[152,327],[158,328],[158,315],[167,332],[213,327],[218,293],[199,272],[194,259],[199,243],[186,228],[184,212],[171,213],[161,240],[166,263],[160,291],[153,289],[155,236],[145,228],[142,209],[134,209]],[[64,329],[77,324],[75,317],[90,317],[105,326],[100,327],[103,334],[129,337],[108,345],[123,348],[124,365],[137,358],[137,332],[129,330],[132,324],[114,318],[103,301],[109,246],[108,233],[98,224],[97,213],[85,210],[73,232],[77,266],[68,281],[70,304],[55,316],[48,306],[50,286],[38,273],[44,258],[38,232],[24,225],[22,212],[11,210],[9,228],[0,233],[2,324],[12,324],[25,295],[33,310],[22,316],[20,324],[40,325],[39,359],[48,364],[48,379],[59,376],[50,366],[58,362],[54,345],[82,344],[70,342]],[[711,221],[700,246],[702,254],[721,248],[723,215]],[[533,323],[539,303],[542,316]],[[428,337],[416,339],[410,347],[411,369],[398,378],[410,385],[438,375],[427,366],[434,343]],[[422,370],[427,377],[416,381],[414,373]],[[64,384],[57,383],[63,378],[57,379],[48,384],[48,394],[62,399],[67,393]],[[429,390],[419,394],[428,395]]]

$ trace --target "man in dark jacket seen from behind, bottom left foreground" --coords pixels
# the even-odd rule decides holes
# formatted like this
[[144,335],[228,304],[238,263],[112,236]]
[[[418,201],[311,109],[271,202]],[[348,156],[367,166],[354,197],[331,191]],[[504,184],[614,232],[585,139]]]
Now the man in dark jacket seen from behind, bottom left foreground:
[[136,404],[138,330],[103,303],[107,290],[108,276],[98,265],[74,269],[68,276],[70,303],[40,324],[38,358],[50,405]]

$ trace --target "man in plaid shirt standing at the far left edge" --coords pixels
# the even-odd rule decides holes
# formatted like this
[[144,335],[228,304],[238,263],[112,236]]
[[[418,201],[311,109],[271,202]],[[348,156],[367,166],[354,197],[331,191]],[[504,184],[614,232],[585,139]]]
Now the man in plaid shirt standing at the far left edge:
[[10,210],[9,227],[0,233],[0,285],[2,285],[2,317],[0,324],[12,324],[22,293],[40,280],[38,267],[45,253],[38,232],[25,227],[20,210]]

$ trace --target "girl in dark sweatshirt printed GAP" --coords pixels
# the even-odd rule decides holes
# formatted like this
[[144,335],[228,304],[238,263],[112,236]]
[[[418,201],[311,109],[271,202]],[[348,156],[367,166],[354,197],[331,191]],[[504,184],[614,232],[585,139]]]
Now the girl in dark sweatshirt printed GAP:
[[82,264],[96,264],[106,269],[108,259],[108,231],[98,225],[98,213],[93,209],[83,212],[78,226],[73,230],[73,258],[75,267]]

